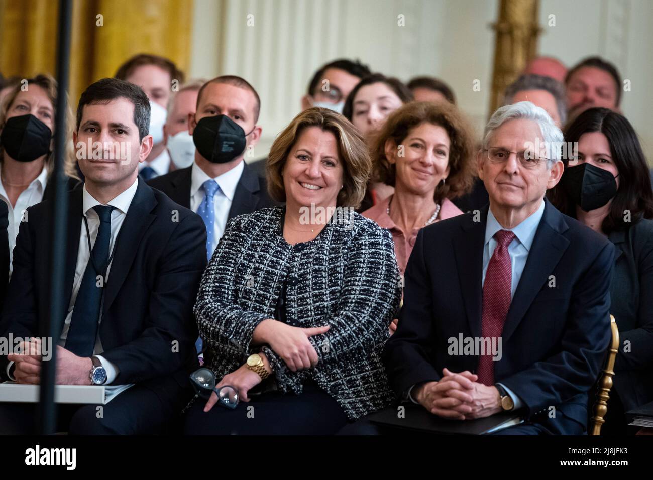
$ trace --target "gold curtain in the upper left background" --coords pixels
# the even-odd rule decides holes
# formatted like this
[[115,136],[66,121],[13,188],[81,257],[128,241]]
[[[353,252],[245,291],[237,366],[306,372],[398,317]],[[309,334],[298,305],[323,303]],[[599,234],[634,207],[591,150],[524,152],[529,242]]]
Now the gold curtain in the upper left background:
[[[0,0],[0,72],[56,76],[57,0]],[[187,72],[193,0],[74,0],[71,78],[74,110],[84,89],[138,53],[157,54]]]

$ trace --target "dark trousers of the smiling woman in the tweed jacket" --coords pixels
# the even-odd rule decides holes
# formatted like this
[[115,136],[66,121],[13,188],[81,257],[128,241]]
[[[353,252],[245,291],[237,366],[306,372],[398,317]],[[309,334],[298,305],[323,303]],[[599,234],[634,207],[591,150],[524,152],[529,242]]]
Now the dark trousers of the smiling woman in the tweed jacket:
[[347,415],[329,394],[308,382],[300,395],[278,391],[252,396],[231,410],[217,404],[204,413],[197,398],[187,411],[188,435],[332,435],[347,424]]

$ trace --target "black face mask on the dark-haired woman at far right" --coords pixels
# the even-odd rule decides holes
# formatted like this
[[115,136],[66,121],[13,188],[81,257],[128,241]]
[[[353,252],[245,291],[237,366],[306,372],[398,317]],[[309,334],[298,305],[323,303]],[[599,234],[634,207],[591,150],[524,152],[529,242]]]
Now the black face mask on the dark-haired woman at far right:
[[562,186],[575,204],[584,212],[590,212],[601,208],[616,195],[615,178],[603,168],[582,163],[565,170]]

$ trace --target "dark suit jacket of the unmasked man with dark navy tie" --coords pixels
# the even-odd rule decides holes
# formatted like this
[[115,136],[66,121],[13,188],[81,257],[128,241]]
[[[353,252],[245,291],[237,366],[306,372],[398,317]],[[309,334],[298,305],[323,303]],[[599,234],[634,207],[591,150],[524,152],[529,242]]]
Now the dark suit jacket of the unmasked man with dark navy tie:
[[[50,277],[49,202],[31,206],[20,225],[14,249],[7,302],[0,333],[37,336],[48,315]],[[72,292],[82,227],[82,186],[69,192],[65,310]],[[206,266],[206,229],[197,214],[138,181],[138,188],[116,239],[104,291],[100,338],[104,358],[119,370],[114,385],[148,382],[174,374],[180,385],[197,367],[193,315]],[[7,359],[0,361],[5,375]],[[167,394],[162,391],[160,394]]]

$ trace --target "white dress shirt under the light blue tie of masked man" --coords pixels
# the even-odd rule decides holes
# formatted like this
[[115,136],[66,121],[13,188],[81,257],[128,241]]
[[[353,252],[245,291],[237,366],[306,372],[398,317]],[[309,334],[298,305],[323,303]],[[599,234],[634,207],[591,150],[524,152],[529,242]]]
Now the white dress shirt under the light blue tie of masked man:
[[[217,242],[225,232],[229,210],[231,210],[231,203],[234,200],[234,193],[236,193],[236,187],[238,186],[240,176],[244,169],[245,163],[244,161],[240,161],[236,167],[213,179],[217,182],[217,186],[220,188],[215,192],[215,196],[213,197],[215,221],[213,225],[214,236],[211,251],[215,250]],[[211,180],[211,177],[208,176],[202,168],[198,167],[197,163],[193,162],[191,170],[191,210],[196,214],[200,204],[202,204],[204,197],[206,196],[206,193],[202,188],[202,185],[206,180]]]

